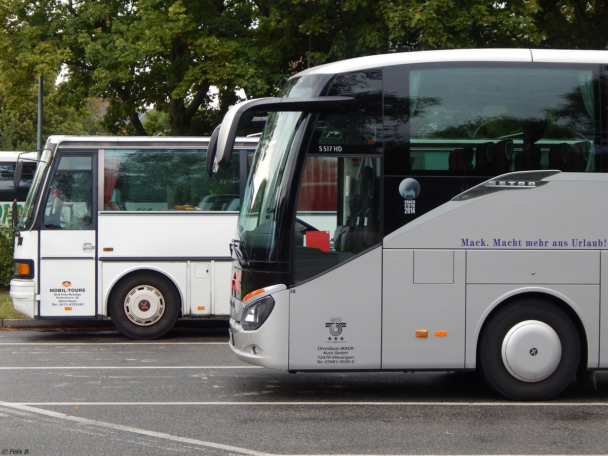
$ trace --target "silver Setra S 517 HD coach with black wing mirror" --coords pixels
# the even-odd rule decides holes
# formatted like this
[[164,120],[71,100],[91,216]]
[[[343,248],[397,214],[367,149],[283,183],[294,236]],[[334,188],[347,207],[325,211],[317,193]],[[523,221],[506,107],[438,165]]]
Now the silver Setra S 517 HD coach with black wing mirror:
[[238,358],[479,370],[512,399],[608,368],[608,52],[314,67],[230,109],[219,168],[251,111],[271,115],[232,241]]

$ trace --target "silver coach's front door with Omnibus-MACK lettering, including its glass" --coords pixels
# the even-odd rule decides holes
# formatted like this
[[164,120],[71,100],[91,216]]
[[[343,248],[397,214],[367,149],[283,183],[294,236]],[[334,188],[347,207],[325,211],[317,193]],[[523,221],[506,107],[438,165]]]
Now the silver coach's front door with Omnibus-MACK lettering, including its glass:
[[379,171],[379,157],[306,160],[295,215],[289,369],[380,368]]

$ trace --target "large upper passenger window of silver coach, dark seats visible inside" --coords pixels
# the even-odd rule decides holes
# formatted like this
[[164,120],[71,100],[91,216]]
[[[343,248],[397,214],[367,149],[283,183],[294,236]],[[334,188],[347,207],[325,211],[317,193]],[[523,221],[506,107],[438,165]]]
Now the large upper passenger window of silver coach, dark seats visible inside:
[[599,167],[596,66],[401,67],[385,81],[387,151],[401,155],[403,171],[496,176]]

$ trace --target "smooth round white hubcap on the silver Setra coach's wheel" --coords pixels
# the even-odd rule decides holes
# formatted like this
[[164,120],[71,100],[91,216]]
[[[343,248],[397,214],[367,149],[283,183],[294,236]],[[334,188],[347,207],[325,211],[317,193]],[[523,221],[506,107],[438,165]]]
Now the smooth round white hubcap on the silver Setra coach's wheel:
[[502,361],[506,370],[525,382],[548,378],[562,358],[558,334],[538,320],[527,320],[513,326],[502,342]]

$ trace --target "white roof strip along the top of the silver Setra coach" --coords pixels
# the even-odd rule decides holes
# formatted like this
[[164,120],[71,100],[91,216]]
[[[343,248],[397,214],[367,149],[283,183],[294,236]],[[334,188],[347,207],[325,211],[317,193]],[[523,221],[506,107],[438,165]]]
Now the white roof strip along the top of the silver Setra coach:
[[396,52],[393,54],[368,55],[326,63],[306,69],[298,75],[337,74],[405,63],[448,61],[608,63],[608,51],[578,49],[442,49]]

